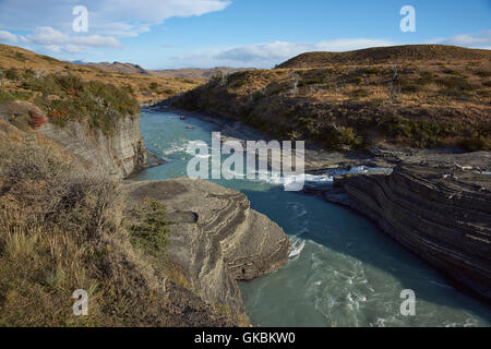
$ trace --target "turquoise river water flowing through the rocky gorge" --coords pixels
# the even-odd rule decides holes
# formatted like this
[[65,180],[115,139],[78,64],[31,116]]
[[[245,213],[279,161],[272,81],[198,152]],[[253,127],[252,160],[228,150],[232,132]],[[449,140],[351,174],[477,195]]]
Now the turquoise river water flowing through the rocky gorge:
[[[133,180],[184,177],[190,142],[211,144],[217,127],[171,112],[145,110],[146,146],[167,163]],[[194,127],[190,130],[187,127]],[[363,171],[368,169],[354,169]],[[330,181],[320,176],[312,180]],[[490,326],[491,310],[456,291],[436,272],[381,232],[371,221],[283,185],[246,179],[216,180],[244,193],[291,241],[289,263],[240,282],[254,326]],[[403,316],[400,292],[416,293],[416,315]]]

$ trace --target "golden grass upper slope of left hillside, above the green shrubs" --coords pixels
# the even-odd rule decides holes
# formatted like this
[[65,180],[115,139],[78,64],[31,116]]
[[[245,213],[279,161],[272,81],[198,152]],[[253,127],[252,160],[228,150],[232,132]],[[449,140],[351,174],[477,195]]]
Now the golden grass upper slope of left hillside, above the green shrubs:
[[16,79],[9,76],[46,76],[71,74],[86,82],[97,81],[124,88],[140,103],[152,103],[197,86],[201,82],[182,79],[161,79],[144,74],[130,74],[103,70],[89,65],[62,62],[48,56],[7,45],[0,45],[0,87],[7,92],[29,92]]

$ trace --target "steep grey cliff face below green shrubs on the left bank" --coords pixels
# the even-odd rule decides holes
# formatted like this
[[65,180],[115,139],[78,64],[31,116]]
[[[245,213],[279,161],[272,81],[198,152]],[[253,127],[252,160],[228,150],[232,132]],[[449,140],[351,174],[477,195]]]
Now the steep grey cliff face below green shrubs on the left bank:
[[91,128],[85,121],[69,121],[62,128],[46,123],[39,131],[92,170],[125,178],[147,164],[147,151],[136,117],[119,119],[111,135]]

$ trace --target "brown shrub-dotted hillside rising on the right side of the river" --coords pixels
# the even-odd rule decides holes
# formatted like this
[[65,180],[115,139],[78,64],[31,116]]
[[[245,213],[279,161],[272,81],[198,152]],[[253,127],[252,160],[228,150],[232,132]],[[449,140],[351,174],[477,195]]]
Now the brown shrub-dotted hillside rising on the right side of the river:
[[325,148],[490,149],[490,58],[489,50],[434,45],[312,52],[215,79],[175,106]]

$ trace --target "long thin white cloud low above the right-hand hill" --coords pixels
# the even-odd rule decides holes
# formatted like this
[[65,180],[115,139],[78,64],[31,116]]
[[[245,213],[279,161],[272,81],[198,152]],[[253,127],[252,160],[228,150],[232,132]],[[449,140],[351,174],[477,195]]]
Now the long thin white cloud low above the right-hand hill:
[[366,38],[335,39],[318,44],[274,41],[179,56],[175,59],[179,60],[179,67],[228,65],[272,68],[295,56],[310,51],[347,51],[391,45],[395,44],[388,40]]

